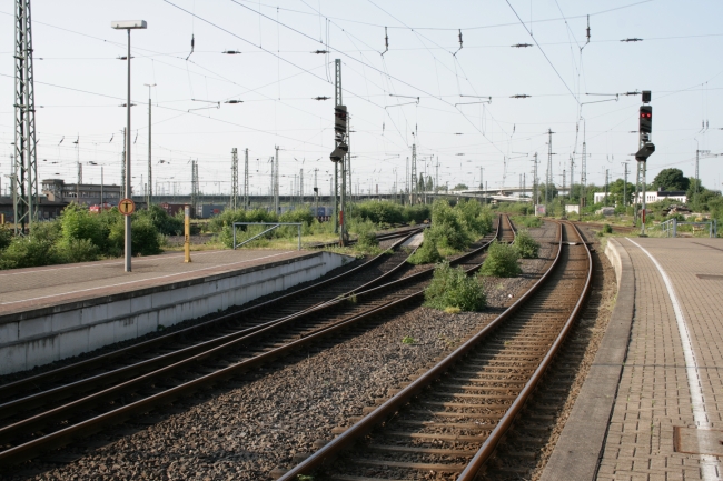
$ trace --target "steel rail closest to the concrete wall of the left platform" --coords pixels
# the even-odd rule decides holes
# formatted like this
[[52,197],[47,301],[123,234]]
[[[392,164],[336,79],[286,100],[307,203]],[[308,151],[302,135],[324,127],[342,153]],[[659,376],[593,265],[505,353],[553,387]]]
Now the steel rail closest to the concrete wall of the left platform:
[[[418,231],[409,232],[405,238],[403,238],[399,241],[395,242],[392,245],[390,249],[396,249],[399,244],[404,243],[408,238],[416,234],[417,232]],[[39,373],[39,374],[36,374],[36,375],[31,375],[31,377],[28,377],[28,378],[19,379],[17,381],[2,384],[2,385],[0,385],[0,399],[10,398],[12,394],[17,393],[17,391],[19,389],[23,388],[23,387],[36,385],[39,382],[43,382],[43,381],[46,381],[48,379],[57,379],[59,375],[69,375],[69,374],[72,374],[72,373],[76,373],[76,372],[79,372],[79,371],[83,371],[83,370],[87,370],[87,369],[89,369],[91,367],[96,367],[96,365],[98,365],[100,363],[111,361],[111,360],[113,360],[116,358],[119,358],[121,355],[127,355],[127,354],[138,352],[138,351],[145,351],[148,348],[151,348],[151,347],[155,347],[155,345],[158,345],[158,344],[162,344],[165,342],[181,338],[181,337],[187,335],[189,333],[198,332],[198,331],[201,331],[201,330],[205,330],[205,329],[209,329],[211,327],[215,327],[215,325],[224,323],[224,322],[234,321],[234,320],[236,320],[236,319],[238,319],[238,318],[240,318],[242,315],[248,315],[250,313],[261,311],[264,309],[269,308],[273,304],[276,304],[276,303],[279,303],[279,302],[286,302],[286,301],[289,301],[289,300],[291,300],[294,298],[298,298],[300,295],[304,295],[304,294],[307,294],[307,293],[310,293],[310,292],[314,292],[314,291],[318,291],[319,288],[326,287],[326,285],[335,283],[335,282],[338,282],[338,281],[340,281],[340,280],[343,280],[343,279],[345,279],[347,277],[350,277],[350,275],[353,275],[353,274],[355,274],[355,273],[357,273],[357,272],[359,272],[359,271],[361,271],[364,269],[367,269],[367,268],[376,264],[377,262],[379,262],[384,258],[384,255],[385,255],[385,253],[382,252],[378,255],[370,259],[368,262],[365,262],[365,263],[363,263],[360,265],[357,265],[356,268],[350,269],[347,272],[344,272],[344,273],[341,273],[339,275],[335,275],[331,279],[327,279],[327,280],[324,280],[321,282],[316,282],[316,283],[314,283],[311,285],[308,285],[308,287],[306,287],[304,289],[299,289],[299,290],[290,292],[288,294],[284,294],[281,297],[270,299],[268,301],[261,302],[261,303],[256,304],[256,305],[251,305],[251,307],[242,309],[240,311],[235,311],[235,312],[230,312],[228,314],[219,315],[217,318],[214,318],[211,320],[201,322],[199,324],[190,325],[190,327],[185,328],[185,329],[179,329],[178,331],[175,331],[175,332],[171,332],[171,333],[168,333],[168,334],[165,334],[165,335],[159,335],[158,338],[149,339],[147,341],[139,342],[137,344],[132,344],[132,345],[129,345],[127,348],[121,348],[121,349],[118,349],[118,350],[113,350],[111,352],[100,354],[100,355],[96,355],[96,357],[92,357],[90,359],[87,359],[87,360],[83,360],[83,361],[80,361],[80,362],[75,362],[72,364],[65,365],[62,368],[53,369],[53,370],[46,371],[46,372],[42,372],[42,373]],[[321,303],[324,303],[324,302],[320,302],[318,304],[321,304]],[[311,309],[311,308],[314,308],[314,307],[316,307],[318,304],[311,305],[311,307],[309,307],[307,309]],[[4,411],[4,410],[0,409],[0,419],[4,418],[7,412],[8,411]]]

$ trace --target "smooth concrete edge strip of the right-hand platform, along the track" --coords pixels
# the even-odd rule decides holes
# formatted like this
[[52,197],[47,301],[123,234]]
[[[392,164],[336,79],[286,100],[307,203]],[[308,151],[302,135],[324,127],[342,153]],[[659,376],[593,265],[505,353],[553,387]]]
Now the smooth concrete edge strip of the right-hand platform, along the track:
[[597,477],[635,310],[635,271],[627,251],[611,238],[605,255],[617,278],[617,301],[541,481],[581,481]]

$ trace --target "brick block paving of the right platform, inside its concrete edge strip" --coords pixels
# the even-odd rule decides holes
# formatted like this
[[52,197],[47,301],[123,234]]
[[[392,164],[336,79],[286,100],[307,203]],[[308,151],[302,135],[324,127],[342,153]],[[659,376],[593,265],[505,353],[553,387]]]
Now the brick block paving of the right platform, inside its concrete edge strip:
[[[720,459],[674,451],[674,428],[723,430],[723,241],[638,239],[670,277],[692,343],[706,420],[696,423],[683,343],[664,280],[650,257],[620,239],[635,271],[630,348],[598,480],[723,479]],[[707,468],[704,468],[707,467]],[[707,474],[706,474],[707,473]]]

